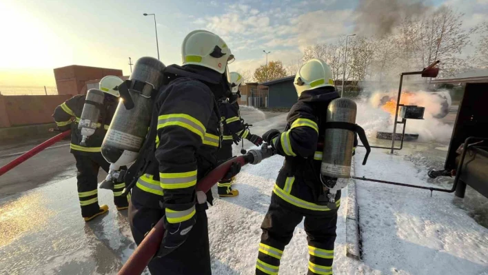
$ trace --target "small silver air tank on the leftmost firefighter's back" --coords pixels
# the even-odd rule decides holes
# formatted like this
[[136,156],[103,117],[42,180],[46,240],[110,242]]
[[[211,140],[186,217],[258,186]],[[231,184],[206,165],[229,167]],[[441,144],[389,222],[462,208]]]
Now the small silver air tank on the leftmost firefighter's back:
[[95,133],[99,125],[100,108],[103,105],[105,93],[98,89],[90,89],[86,93],[85,105],[81,112],[78,129],[81,132],[81,146],[86,146],[89,136]]

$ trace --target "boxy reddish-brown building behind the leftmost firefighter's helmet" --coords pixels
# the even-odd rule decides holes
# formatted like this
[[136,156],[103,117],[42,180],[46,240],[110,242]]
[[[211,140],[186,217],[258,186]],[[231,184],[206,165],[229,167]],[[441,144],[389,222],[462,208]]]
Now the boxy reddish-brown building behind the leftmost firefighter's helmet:
[[70,65],[54,69],[58,94],[85,94],[85,82],[105,76],[122,76],[122,70]]

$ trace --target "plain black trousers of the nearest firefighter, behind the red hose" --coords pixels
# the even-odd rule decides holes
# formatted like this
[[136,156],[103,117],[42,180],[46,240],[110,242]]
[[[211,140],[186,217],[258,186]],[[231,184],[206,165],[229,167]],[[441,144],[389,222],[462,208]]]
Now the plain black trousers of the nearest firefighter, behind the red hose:
[[[211,275],[210,245],[208,241],[207,203],[196,205],[196,223],[180,247],[162,258],[152,258],[148,268],[151,274]],[[163,218],[164,209],[145,207],[130,200],[129,223],[134,241],[139,245],[154,225]]]

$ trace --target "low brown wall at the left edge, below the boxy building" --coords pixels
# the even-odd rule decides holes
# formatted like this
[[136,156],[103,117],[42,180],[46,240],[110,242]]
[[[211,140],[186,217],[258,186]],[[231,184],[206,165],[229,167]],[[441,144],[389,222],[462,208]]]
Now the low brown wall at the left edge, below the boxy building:
[[71,94],[39,96],[0,95],[0,128],[52,123],[54,109]]

